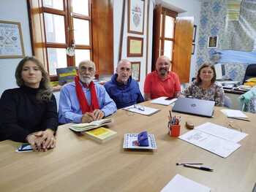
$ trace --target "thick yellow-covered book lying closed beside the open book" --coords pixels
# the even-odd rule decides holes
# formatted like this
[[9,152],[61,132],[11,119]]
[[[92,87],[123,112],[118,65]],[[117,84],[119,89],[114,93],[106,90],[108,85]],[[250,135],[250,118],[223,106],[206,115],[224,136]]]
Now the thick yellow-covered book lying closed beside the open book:
[[112,131],[104,127],[99,127],[91,131],[86,131],[85,134],[97,142],[105,142],[112,139],[113,137],[116,137],[116,131]]

